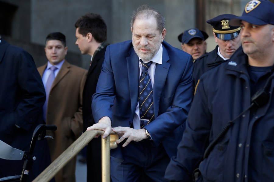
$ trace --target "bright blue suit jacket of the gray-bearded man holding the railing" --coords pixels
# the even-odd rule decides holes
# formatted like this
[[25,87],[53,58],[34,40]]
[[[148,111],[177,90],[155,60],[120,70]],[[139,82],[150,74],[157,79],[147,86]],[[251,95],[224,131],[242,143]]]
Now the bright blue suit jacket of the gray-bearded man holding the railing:
[[[162,64],[156,64],[153,102],[155,120],[146,126],[153,143],[176,155],[192,99],[192,57],[163,42]],[[92,100],[95,122],[111,118],[112,127],[132,125],[139,96],[139,58],[132,41],[107,46]],[[121,145],[119,146],[121,147]],[[111,156],[122,158],[119,147]]]

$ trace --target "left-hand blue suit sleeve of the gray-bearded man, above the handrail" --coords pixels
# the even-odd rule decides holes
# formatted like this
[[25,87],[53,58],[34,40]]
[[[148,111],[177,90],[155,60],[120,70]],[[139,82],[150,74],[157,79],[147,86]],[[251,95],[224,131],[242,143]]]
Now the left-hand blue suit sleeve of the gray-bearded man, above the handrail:
[[111,106],[114,104],[115,82],[111,67],[110,47],[107,46],[96,93],[92,96],[92,113],[95,123],[104,117],[112,118]]

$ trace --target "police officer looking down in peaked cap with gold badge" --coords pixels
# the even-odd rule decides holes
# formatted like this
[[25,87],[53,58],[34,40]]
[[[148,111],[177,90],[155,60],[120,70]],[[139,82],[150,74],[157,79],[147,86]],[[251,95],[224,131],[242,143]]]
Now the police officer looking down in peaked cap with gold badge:
[[194,88],[204,72],[229,59],[241,46],[241,39],[238,36],[240,35],[241,27],[229,25],[229,21],[235,17],[237,16],[224,14],[206,21],[213,26],[213,35],[218,45],[213,51],[204,54],[194,62],[192,75]]

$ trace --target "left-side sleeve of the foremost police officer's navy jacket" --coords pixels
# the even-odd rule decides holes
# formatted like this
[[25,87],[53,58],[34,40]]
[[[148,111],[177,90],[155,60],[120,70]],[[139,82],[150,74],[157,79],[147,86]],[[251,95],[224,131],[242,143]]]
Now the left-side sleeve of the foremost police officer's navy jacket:
[[177,156],[171,158],[165,173],[165,178],[169,181],[192,181],[192,173],[203,158],[212,120],[206,95],[201,79],[188,114],[183,138],[177,147]]

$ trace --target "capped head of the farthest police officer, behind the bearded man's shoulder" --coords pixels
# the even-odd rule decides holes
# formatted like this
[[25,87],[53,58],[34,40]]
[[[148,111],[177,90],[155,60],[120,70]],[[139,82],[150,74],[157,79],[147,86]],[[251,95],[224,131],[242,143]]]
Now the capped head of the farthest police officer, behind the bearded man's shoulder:
[[178,35],[183,51],[191,54],[193,62],[206,53],[207,38],[207,33],[199,29],[188,29]]

